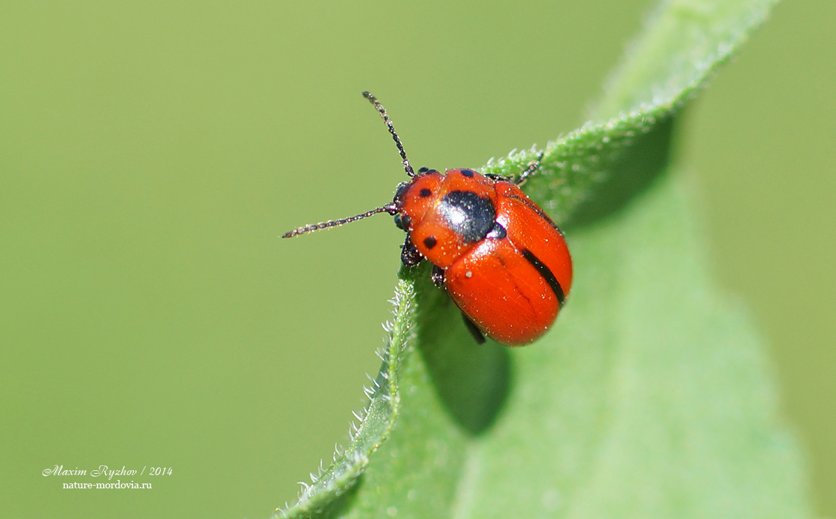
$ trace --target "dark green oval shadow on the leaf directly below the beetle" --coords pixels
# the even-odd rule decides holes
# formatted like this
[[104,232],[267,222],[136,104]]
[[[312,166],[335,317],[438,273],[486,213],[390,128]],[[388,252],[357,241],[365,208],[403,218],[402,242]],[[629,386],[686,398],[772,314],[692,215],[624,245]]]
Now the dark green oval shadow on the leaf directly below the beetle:
[[426,267],[419,267],[416,279],[421,357],[451,418],[470,435],[480,435],[497,420],[507,400],[511,356],[507,347],[490,339],[477,344],[456,304],[430,282]]

